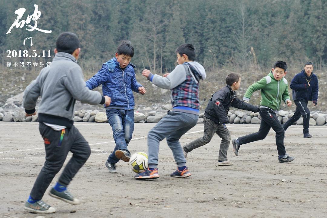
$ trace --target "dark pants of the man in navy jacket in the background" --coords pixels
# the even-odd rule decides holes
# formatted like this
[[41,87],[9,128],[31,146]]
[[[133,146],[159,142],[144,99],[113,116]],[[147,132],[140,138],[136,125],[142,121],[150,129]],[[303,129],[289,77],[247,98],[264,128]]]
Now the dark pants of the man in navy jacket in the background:
[[291,126],[293,123],[298,121],[303,116],[303,133],[309,132],[309,121],[310,121],[310,110],[308,109],[308,101],[297,101],[294,100],[296,105],[296,110],[294,115],[287,120],[286,123],[283,124],[284,130]]

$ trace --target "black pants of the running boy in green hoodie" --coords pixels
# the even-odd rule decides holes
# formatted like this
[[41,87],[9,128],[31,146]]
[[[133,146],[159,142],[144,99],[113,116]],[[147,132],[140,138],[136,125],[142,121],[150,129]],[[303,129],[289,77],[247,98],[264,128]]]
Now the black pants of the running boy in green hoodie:
[[276,132],[276,145],[278,155],[286,154],[286,150],[284,147],[284,128],[282,124],[278,121],[276,113],[267,108],[260,108],[259,114],[261,116],[259,131],[256,133],[239,137],[239,144],[241,145],[263,140],[268,135],[270,128],[272,128]]

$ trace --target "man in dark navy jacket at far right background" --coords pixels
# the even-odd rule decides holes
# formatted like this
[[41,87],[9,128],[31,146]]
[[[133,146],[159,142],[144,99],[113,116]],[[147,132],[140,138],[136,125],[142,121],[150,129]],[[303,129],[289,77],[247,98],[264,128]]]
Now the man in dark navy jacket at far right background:
[[308,109],[308,101],[313,102],[313,106],[317,105],[318,101],[318,77],[312,72],[313,64],[307,62],[304,65],[304,70],[294,76],[291,81],[291,89],[294,103],[296,104],[296,110],[294,115],[287,120],[283,125],[284,130],[295,123],[301,115],[303,116],[303,137],[311,138],[309,134],[309,120],[310,110]]

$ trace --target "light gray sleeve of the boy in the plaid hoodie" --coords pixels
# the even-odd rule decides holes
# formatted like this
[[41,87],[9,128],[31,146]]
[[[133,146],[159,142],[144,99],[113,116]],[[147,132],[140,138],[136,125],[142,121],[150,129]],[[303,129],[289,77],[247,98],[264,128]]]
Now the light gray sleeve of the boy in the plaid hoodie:
[[[152,77],[151,75],[149,78]],[[173,89],[176,86],[180,85],[186,79],[186,72],[184,66],[179,64],[175,67],[175,69],[170,72],[167,77],[163,77],[160,75],[153,75],[152,83],[163,89]]]

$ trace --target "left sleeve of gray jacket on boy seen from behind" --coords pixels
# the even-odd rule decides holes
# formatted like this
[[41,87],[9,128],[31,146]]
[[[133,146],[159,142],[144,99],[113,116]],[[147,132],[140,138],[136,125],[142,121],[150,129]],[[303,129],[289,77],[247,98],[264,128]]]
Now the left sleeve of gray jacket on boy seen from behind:
[[29,84],[23,94],[23,107],[25,108],[26,113],[32,114],[35,112],[36,102],[38,97],[41,95],[41,87],[39,84],[39,78],[36,77],[35,80]]

